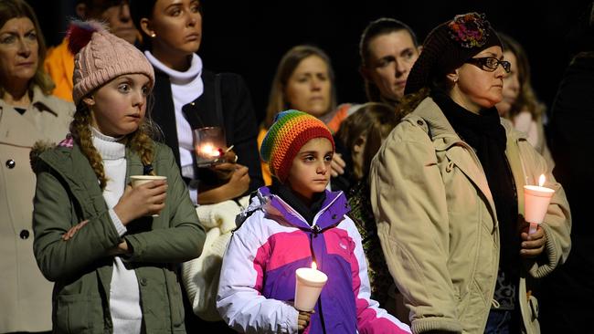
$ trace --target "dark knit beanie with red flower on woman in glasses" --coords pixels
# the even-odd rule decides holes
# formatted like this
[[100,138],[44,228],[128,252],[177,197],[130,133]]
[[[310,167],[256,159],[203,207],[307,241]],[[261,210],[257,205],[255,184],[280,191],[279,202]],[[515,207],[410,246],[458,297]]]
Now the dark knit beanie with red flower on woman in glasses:
[[423,50],[410,69],[404,93],[430,87],[434,79],[460,68],[469,58],[493,46],[501,47],[502,44],[484,14],[454,16],[431,30],[425,38]]

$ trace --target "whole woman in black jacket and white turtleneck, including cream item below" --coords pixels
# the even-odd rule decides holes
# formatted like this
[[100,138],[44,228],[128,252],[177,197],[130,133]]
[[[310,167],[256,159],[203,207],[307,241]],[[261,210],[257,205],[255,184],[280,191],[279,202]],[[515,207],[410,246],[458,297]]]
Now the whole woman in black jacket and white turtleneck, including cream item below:
[[[257,147],[258,123],[243,78],[203,68],[196,54],[202,41],[202,6],[197,0],[130,1],[144,55],[154,68],[153,119],[174,151],[190,197],[207,229],[202,256],[183,265],[186,328],[225,331],[215,308],[220,259],[235,227],[235,215],[262,182]],[[198,168],[193,130],[225,131],[222,163]],[[224,216],[224,218],[220,218]],[[202,319],[213,321],[200,323]]]

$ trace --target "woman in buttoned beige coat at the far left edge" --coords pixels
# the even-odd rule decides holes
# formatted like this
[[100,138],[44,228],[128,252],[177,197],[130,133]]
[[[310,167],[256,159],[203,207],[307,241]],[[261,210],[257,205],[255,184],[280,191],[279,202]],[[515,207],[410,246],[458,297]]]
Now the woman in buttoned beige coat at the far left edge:
[[[29,151],[68,132],[74,106],[51,97],[46,45],[33,9],[0,0],[0,332],[51,330],[51,284],[33,256],[35,175]],[[31,317],[31,315],[35,315]]]

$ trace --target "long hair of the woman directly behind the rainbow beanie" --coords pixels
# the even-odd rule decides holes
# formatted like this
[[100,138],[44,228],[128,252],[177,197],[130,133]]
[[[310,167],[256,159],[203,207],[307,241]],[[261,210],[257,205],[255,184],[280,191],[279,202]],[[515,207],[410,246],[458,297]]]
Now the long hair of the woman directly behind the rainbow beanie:
[[279,67],[276,68],[276,74],[272,79],[272,86],[270,87],[270,97],[268,99],[268,106],[266,107],[266,117],[264,118],[263,127],[269,129],[274,122],[274,116],[282,110],[292,109],[284,94],[284,89],[287,86],[289,78],[295,68],[301,64],[306,57],[317,56],[324,60],[326,68],[328,68],[328,78],[330,80],[330,106],[327,112],[336,109],[336,90],[334,87],[334,70],[330,63],[330,57],[319,47],[313,46],[296,46],[287,51],[281,58]]

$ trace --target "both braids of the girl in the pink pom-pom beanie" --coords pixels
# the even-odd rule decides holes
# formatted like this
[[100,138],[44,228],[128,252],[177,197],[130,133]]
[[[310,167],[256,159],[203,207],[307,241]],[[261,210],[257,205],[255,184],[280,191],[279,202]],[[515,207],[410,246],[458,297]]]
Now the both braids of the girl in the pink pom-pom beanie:
[[[89,160],[90,167],[95,172],[95,175],[97,175],[97,179],[99,179],[101,190],[105,190],[107,177],[105,176],[101,154],[93,145],[90,123],[90,109],[84,102],[81,102],[74,113],[74,119],[70,122],[70,134],[79,145],[82,154]],[[154,125],[148,117],[147,112],[146,118],[138,129],[124,136],[122,140],[126,144],[126,147],[138,153],[144,166],[151,165],[154,159],[153,133]],[[152,170],[149,173],[154,175],[154,171]]]

